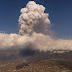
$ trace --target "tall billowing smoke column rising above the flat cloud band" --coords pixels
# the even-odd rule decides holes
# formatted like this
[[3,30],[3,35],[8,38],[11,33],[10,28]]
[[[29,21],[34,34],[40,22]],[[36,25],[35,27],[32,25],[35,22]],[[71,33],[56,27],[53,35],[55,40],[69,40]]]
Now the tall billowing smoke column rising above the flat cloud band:
[[48,33],[48,25],[50,20],[49,14],[44,13],[45,7],[29,1],[25,8],[21,9],[19,17],[19,34],[32,35],[35,33]]

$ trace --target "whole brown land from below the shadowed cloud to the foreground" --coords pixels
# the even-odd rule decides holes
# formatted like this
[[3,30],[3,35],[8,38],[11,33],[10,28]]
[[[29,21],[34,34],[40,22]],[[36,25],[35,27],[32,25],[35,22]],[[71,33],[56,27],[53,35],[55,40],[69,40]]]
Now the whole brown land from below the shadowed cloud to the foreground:
[[[14,53],[11,53],[14,54]],[[18,56],[18,55],[17,55]],[[31,56],[0,56],[0,72],[72,72],[72,52],[36,52]]]

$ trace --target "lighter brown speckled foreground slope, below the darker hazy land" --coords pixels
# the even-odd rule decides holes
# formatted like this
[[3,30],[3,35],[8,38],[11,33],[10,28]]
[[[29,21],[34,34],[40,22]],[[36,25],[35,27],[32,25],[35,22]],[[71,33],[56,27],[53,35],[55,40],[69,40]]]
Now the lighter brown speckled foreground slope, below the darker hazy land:
[[0,72],[72,72],[72,61],[42,60],[32,63],[25,61],[0,62]]

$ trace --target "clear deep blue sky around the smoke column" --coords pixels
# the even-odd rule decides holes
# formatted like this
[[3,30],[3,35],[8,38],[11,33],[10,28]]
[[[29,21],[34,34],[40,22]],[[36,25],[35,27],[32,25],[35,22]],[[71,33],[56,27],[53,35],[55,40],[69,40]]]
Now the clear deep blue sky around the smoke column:
[[[20,9],[29,0],[0,0],[0,32],[17,33]],[[57,38],[72,38],[72,0],[34,0],[46,7]]]

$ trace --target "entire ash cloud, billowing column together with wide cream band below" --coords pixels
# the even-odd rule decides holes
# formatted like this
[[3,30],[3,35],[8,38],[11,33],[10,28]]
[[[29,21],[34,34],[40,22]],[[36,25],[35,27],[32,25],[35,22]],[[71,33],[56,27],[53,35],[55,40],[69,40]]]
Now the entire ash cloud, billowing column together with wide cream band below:
[[50,35],[49,14],[44,13],[45,7],[29,1],[21,9],[18,34],[0,33],[0,49],[23,48],[31,43],[32,50],[39,51],[72,51],[72,40],[54,39]]

